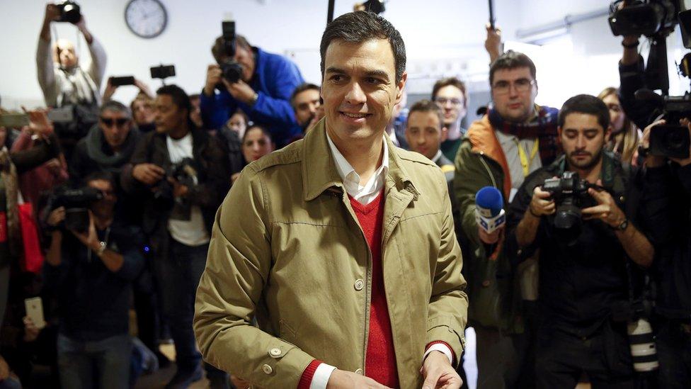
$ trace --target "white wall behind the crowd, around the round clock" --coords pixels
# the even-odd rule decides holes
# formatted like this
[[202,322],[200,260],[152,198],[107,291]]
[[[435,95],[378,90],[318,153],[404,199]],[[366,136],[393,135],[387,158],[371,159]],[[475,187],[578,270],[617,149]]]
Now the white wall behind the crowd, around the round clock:
[[[319,40],[326,25],[326,0],[161,0],[169,13],[169,24],[158,38],[145,40],[130,33],[125,25],[127,0],[81,0],[88,28],[108,52],[109,75],[134,74],[152,88],[159,80],[149,77],[149,67],[163,62],[176,65],[178,74],[169,82],[190,93],[199,91],[205,68],[212,62],[210,45],[220,33],[224,13],[232,12],[239,33],[253,45],[270,52],[293,56],[305,79],[319,81]],[[336,16],[350,11],[353,0],[336,1]],[[513,35],[518,1],[497,0],[498,18],[505,35]],[[513,8],[512,8],[513,7]],[[35,47],[45,2],[0,0],[0,96],[3,106],[42,104],[35,77]],[[409,61],[418,74],[468,74],[466,62],[482,64],[484,23],[487,4],[479,0],[394,0],[384,16],[401,31]],[[54,23],[61,38],[76,38],[76,28]],[[86,54],[86,44],[81,45]],[[430,69],[430,62],[438,62]],[[462,65],[459,65],[463,63]],[[129,101],[132,86],[120,88],[116,99]]]

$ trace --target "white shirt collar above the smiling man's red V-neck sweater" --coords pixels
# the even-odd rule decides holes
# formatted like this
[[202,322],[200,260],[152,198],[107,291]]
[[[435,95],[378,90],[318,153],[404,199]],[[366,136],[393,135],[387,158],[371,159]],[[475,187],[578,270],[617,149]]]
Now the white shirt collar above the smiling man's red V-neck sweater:
[[333,160],[336,162],[338,175],[343,180],[345,191],[360,203],[370,203],[384,187],[384,180],[387,174],[389,174],[389,146],[387,145],[386,137],[384,137],[382,165],[377,168],[375,174],[372,174],[372,177],[364,186],[360,186],[360,174],[353,169],[348,160],[338,151],[338,147],[333,144],[329,133],[326,133],[326,140],[329,142],[329,149],[331,150],[331,155],[333,155]]

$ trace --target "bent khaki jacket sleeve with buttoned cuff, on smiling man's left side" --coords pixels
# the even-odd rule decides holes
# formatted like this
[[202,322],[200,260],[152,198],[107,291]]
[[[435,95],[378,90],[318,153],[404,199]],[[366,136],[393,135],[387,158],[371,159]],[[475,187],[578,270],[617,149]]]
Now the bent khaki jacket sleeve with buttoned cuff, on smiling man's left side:
[[260,176],[244,169],[216,215],[193,327],[208,363],[253,385],[296,388],[314,358],[251,323],[272,260],[267,209]]

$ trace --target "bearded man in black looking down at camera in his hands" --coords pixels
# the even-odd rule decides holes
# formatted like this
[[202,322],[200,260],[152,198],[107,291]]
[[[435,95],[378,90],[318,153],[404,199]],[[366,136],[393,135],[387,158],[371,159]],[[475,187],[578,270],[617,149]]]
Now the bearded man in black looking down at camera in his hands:
[[[604,150],[610,130],[603,101],[569,98],[559,113],[564,156],[530,174],[508,211],[513,265],[539,250],[539,388],[573,388],[584,372],[593,385],[634,387],[625,322],[612,321],[612,308],[628,298],[627,258],[650,266],[653,247],[636,228],[632,172]],[[565,172],[587,185],[555,179],[548,191],[545,180]]]

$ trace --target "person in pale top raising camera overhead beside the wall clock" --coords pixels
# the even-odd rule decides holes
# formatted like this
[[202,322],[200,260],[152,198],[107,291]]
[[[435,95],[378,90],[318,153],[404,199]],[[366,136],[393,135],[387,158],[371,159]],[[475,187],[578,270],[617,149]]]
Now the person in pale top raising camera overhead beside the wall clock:
[[67,104],[96,107],[101,101],[99,89],[105,73],[105,50],[86,28],[84,16],[79,16],[74,25],[84,35],[91,60],[81,67],[74,45],[64,39],[57,40],[50,50],[50,23],[57,21],[62,21],[60,7],[46,4],[36,52],[38,84],[43,91],[45,103],[51,107]]

